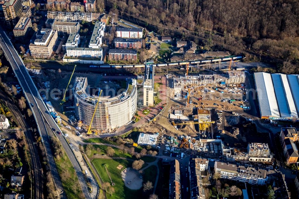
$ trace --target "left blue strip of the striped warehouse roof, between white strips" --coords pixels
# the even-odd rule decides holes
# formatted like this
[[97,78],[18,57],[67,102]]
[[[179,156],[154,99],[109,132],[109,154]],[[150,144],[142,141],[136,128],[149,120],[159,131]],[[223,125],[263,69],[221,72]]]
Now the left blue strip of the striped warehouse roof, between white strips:
[[287,104],[286,94],[284,91],[282,76],[280,74],[271,74],[275,96],[279,107],[280,117],[290,117],[290,111]]

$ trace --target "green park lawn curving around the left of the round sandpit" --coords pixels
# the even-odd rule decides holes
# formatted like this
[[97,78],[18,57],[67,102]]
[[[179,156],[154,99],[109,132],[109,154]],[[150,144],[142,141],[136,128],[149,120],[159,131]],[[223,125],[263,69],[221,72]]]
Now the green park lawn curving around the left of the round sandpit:
[[[107,195],[107,198],[135,198],[134,196],[140,196],[142,195],[142,190],[132,190],[129,189],[125,186],[122,177],[121,177],[121,172],[123,169],[127,167],[132,166],[132,161],[128,160],[122,160],[122,159],[94,159],[91,161],[95,168],[97,169],[97,172],[100,174],[101,178],[103,179],[104,182],[110,182],[110,178],[106,172],[106,169],[104,165],[106,165],[108,172],[110,174],[110,177],[112,181],[115,183],[114,189],[115,193],[111,196],[109,194]],[[117,169],[118,165],[122,165],[123,169],[119,170]]]

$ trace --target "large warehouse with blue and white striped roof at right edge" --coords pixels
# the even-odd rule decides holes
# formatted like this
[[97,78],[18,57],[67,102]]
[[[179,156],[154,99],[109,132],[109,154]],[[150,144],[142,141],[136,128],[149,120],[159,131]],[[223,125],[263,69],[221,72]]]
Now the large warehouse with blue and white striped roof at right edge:
[[299,76],[254,73],[257,99],[262,119],[292,120],[298,118]]

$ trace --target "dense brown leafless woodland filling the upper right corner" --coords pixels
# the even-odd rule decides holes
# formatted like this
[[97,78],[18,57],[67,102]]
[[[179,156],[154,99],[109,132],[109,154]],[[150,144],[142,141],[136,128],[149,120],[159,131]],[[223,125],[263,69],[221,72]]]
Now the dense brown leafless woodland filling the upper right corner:
[[276,58],[281,72],[299,72],[298,0],[106,0],[105,7],[207,50],[251,50],[260,54],[255,59]]

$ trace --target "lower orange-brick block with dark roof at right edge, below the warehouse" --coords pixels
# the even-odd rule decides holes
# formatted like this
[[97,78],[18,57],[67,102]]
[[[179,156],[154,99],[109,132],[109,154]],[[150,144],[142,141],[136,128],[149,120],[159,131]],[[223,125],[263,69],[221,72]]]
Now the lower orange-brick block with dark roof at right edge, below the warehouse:
[[283,154],[288,164],[296,163],[299,158],[298,149],[294,141],[290,138],[286,138],[282,141],[281,146],[283,148]]

